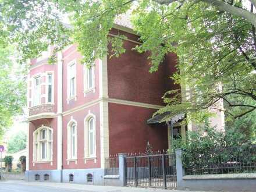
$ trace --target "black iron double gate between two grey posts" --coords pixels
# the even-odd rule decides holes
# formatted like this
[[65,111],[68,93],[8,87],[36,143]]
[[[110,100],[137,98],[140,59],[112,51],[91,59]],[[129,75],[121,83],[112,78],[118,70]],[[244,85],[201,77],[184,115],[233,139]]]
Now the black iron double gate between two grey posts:
[[175,188],[175,154],[126,157],[125,176],[126,186]]

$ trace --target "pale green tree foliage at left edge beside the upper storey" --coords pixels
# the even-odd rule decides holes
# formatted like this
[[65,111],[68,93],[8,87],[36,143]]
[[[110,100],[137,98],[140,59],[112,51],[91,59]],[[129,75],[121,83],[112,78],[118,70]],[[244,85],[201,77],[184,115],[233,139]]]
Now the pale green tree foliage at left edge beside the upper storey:
[[15,48],[0,44],[0,140],[12,118],[23,112],[26,72],[23,65],[15,65]]

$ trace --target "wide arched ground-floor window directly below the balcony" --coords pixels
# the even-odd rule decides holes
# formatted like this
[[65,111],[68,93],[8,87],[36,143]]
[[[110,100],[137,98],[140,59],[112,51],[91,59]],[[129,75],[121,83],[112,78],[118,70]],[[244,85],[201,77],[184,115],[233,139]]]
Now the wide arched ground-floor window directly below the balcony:
[[52,129],[41,126],[34,131],[34,162],[52,160]]

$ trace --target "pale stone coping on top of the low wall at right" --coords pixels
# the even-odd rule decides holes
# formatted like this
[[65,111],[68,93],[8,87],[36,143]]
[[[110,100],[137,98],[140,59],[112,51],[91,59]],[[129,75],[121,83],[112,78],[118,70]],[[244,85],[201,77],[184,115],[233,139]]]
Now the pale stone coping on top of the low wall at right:
[[256,179],[256,173],[228,173],[212,175],[186,175],[184,180],[210,180],[210,179]]

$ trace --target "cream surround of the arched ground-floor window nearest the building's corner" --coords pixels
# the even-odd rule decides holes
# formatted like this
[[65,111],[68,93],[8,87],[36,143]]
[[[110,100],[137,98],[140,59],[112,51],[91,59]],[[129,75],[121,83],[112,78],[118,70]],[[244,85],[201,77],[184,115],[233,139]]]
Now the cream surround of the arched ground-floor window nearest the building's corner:
[[[94,127],[93,127],[93,134],[94,134],[94,153],[90,154],[90,127],[89,122],[90,120],[94,120]],[[97,157],[97,146],[96,146],[96,117],[93,113],[88,113],[86,118],[84,118],[84,159],[94,159],[96,160]],[[95,162],[95,161],[94,161]]]

